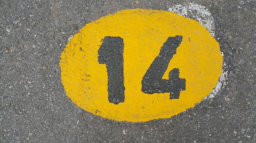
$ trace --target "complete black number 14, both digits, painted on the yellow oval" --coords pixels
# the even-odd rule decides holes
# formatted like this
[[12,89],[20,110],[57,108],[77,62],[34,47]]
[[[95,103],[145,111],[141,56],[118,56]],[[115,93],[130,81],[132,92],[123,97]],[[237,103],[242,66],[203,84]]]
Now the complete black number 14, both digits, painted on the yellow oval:
[[[169,37],[161,47],[159,55],[141,81],[141,91],[147,94],[170,93],[170,99],[177,99],[180,91],[186,89],[186,80],[179,78],[179,69],[169,72],[169,80],[162,80],[170,60],[181,44],[182,36]],[[124,40],[120,37],[106,36],[98,50],[98,62],[106,64],[107,92],[110,103],[119,104],[125,101],[124,86]]]

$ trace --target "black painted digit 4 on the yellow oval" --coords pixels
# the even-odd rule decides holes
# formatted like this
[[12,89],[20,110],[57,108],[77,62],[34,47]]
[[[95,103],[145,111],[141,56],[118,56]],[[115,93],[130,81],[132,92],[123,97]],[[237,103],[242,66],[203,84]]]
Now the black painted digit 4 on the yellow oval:
[[162,76],[173,55],[176,54],[176,49],[180,46],[181,41],[182,36],[175,36],[168,37],[163,43],[159,55],[142,78],[142,92],[148,94],[169,92],[170,99],[178,99],[180,92],[186,90],[186,80],[179,78],[179,69],[172,69],[169,72],[169,80],[162,80]]

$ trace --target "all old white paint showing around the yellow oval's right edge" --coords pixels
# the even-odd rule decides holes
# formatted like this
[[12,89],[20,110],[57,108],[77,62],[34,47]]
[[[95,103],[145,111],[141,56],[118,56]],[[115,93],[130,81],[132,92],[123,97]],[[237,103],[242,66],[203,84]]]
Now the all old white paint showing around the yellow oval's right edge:
[[[169,7],[168,11],[175,12],[181,16],[198,21],[209,31],[212,37],[215,36],[214,19],[211,12],[205,6],[188,3],[188,5],[175,5]],[[223,52],[221,52],[221,55],[224,56]],[[223,63],[222,74],[219,75],[219,81],[217,82],[216,87],[212,89],[212,92],[208,94],[206,98],[215,97],[215,95],[220,92],[221,88],[226,85],[227,72],[225,72],[223,69],[225,69],[225,63]]]

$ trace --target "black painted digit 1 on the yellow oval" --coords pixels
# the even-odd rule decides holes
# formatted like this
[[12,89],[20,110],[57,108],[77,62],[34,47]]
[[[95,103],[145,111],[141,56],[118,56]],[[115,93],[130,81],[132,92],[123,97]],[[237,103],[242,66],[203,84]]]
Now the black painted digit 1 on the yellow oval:
[[98,62],[106,64],[108,101],[114,104],[125,101],[123,53],[124,40],[111,36],[104,38],[98,51]]

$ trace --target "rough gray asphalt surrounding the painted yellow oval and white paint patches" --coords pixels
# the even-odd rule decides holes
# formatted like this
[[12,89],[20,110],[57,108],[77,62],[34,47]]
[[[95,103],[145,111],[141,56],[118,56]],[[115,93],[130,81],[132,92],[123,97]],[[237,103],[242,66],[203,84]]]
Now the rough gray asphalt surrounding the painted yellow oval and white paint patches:
[[194,0],[215,20],[226,85],[169,119],[119,122],[79,108],[61,83],[68,38],[122,9],[189,0],[0,0],[0,143],[256,143],[256,1]]

